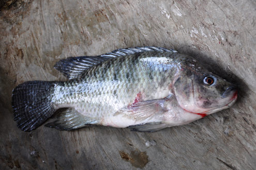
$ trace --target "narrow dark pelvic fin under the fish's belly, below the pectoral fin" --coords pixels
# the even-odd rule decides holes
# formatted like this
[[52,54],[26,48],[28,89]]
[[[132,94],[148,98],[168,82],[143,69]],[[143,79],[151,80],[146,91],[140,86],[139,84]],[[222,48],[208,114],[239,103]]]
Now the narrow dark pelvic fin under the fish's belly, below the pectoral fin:
[[140,131],[140,132],[155,132],[157,130],[161,130],[163,128],[167,127],[164,123],[161,122],[151,122],[146,124],[139,124],[134,126],[128,126],[127,128],[130,128],[131,131]]

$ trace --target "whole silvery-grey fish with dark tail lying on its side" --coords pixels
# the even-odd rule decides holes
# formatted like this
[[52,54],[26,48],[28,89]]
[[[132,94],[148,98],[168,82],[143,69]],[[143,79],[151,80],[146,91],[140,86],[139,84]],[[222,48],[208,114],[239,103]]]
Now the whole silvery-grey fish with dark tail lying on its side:
[[54,68],[67,81],[27,81],[12,91],[14,121],[31,131],[92,125],[154,132],[230,108],[236,86],[174,49],[146,46],[69,57]]

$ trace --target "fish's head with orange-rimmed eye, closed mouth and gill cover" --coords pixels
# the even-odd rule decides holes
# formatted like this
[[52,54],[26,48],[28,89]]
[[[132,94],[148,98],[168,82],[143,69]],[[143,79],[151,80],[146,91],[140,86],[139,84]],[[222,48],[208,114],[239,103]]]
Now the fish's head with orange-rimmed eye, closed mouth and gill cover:
[[206,115],[231,107],[237,98],[234,84],[210,72],[185,72],[176,79],[174,93],[185,111]]

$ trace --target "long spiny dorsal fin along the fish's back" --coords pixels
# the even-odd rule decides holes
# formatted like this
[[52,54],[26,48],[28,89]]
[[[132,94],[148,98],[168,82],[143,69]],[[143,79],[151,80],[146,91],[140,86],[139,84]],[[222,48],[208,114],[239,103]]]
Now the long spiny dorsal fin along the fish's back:
[[58,61],[54,68],[62,72],[68,79],[78,78],[78,76],[85,70],[92,66],[98,65],[101,62],[116,58],[123,57],[130,54],[143,53],[146,51],[170,52],[178,53],[174,49],[167,49],[162,47],[146,46],[134,48],[121,48],[113,50],[111,53],[102,54],[100,56],[80,56],[69,57]]

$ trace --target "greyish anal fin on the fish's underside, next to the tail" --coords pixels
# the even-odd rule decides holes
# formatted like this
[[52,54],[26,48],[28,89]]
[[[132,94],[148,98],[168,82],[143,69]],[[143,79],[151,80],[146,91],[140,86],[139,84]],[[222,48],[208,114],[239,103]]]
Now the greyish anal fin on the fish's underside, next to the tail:
[[44,126],[58,130],[73,130],[81,127],[96,125],[98,121],[92,120],[73,108],[62,108],[57,110],[55,121]]

